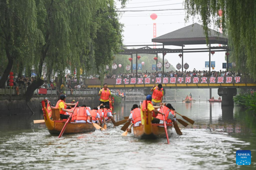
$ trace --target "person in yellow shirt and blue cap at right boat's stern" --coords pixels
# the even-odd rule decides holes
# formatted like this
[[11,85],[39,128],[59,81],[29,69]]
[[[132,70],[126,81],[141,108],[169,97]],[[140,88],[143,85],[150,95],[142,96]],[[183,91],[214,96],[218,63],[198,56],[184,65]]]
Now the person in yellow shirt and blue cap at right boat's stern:
[[[146,102],[147,102],[147,108],[148,108],[148,111],[150,111],[151,113],[154,113],[154,114],[157,114],[157,113],[160,113],[159,111],[157,111],[157,109],[160,108],[160,106],[153,106],[152,102],[152,96],[151,95],[148,95],[146,97],[146,100],[143,101],[142,105],[141,105],[141,109],[140,109],[140,113],[141,113],[141,124],[144,125],[144,109],[146,107]],[[162,104],[161,104],[162,105]],[[162,114],[162,113],[160,113]],[[153,115],[154,116],[154,115]],[[160,122],[160,119],[157,119],[155,117],[152,116],[152,121],[151,123],[159,123]]]

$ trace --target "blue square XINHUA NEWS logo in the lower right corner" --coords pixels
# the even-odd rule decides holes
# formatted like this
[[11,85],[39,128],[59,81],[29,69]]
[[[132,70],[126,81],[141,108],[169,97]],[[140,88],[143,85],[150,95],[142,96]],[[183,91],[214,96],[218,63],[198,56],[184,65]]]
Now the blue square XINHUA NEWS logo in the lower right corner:
[[237,150],[236,151],[236,164],[237,165],[250,165],[251,164],[251,151],[250,150]]

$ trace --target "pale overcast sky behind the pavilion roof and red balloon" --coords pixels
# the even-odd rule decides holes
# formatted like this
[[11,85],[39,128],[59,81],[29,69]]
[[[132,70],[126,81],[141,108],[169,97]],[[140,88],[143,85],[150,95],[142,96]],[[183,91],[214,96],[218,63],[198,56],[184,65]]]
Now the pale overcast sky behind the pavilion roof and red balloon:
[[[184,8],[182,3],[183,0],[130,0],[126,8],[119,10],[182,9]],[[116,6],[117,8],[121,8],[119,2],[116,2]],[[158,15],[157,19],[154,21],[150,18],[152,13]],[[192,19],[189,20],[189,23],[185,23],[184,17],[185,10],[122,12],[120,22],[125,26],[123,32],[124,45],[153,44],[153,42],[151,42],[153,38],[153,23],[157,23],[157,37],[159,37],[193,23]],[[199,23],[197,19],[195,19],[194,22]],[[218,46],[218,44],[211,46]],[[184,48],[206,47],[206,45],[185,45]],[[158,46],[158,48],[161,48],[161,46]],[[181,47],[166,46],[165,48],[177,49]],[[181,64],[181,59],[178,55],[179,53],[166,54],[165,58],[176,68],[178,62]],[[209,70],[209,68],[205,68],[205,61],[209,61],[209,53],[184,53],[183,55],[183,64],[186,62],[189,64],[188,71],[192,71],[194,68],[196,70]],[[211,61],[215,61],[215,71],[219,71],[220,69],[225,70],[222,69],[222,62],[226,62],[225,52],[216,52],[213,57],[211,57]],[[151,65],[154,63],[145,64]]]

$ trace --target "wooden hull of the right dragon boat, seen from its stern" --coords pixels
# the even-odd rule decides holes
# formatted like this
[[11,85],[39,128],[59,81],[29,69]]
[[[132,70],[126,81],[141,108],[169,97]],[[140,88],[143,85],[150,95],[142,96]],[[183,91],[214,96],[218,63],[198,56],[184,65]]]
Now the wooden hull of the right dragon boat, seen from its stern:
[[[166,132],[163,124],[151,123],[152,114],[144,112],[144,125],[133,127],[134,136],[138,139],[159,139],[166,138]],[[172,124],[167,125],[168,136],[171,136]]]

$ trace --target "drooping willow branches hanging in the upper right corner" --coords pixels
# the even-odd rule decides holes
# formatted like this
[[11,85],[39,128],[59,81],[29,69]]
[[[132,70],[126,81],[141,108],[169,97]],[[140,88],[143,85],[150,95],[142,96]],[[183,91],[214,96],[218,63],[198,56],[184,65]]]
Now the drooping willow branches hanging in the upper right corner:
[[[256,78],[256,1],[255,0],[185,0],[186,21],[192,16],[203,23],[208,40],[208,27],[214,24],[228,35],[230,57],[238,69]],[[219,18],[218,11],[222,10]]]

